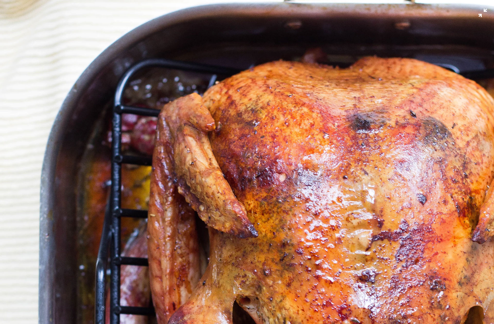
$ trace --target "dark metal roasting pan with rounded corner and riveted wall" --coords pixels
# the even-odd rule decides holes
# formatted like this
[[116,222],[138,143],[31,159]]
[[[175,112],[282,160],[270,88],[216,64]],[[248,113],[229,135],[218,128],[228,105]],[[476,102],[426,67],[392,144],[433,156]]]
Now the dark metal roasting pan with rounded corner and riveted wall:
[[109,107],[119,79],[130,66],[144,59],[168,58],[247,69],[294,59],[309,47],[321,46],[340,66],[378,55],[414,57],[456,72],[484,70],[494,66],[494,8],[488,7],[486,13],[484,7],[206,5],[161,16],[124,35],[76,81],[48,138],[41,173],[39,322],[77,323],[81,159],[102,110]]

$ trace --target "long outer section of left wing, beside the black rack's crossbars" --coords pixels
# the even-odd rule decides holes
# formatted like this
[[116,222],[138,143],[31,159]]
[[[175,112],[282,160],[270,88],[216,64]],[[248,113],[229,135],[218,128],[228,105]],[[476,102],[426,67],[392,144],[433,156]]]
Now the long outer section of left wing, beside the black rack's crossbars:
[[148,211],[148,260],[151,293],[159,323],[166,323],[204,273],[195,212],[178,193],[171,135],[161,117],[153,154]]

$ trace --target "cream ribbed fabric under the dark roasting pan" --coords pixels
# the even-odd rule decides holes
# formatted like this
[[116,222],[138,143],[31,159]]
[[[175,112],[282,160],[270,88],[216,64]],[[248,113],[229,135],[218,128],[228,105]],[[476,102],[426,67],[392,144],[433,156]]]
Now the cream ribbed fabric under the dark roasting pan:
[[38,319],[41,163],[66,93],[127,31],[211,2],[240,1],[0,0],[0,323]]

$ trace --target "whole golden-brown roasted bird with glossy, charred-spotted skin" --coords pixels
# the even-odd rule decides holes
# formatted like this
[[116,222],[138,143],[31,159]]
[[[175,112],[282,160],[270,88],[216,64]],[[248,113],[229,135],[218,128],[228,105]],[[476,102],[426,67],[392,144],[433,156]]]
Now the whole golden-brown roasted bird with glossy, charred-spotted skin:
[[257,324],[494,323],[493,114],[474,81],[375,57],[271,62],[166,104],[158,322],[231,324],[236,301]]

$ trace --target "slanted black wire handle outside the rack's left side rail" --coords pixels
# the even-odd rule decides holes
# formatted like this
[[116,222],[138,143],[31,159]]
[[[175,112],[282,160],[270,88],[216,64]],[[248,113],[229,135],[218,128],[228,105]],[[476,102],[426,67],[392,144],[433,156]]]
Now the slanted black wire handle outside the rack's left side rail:
[[108,267],[108,247],[112,239],[111,225],[112,213],[110,212],[110,199],[106,203],[105,218],[103,220],[103,230],[101,241],[99,242],[98,258],[96,259],[96,291],[94,313],[95,324],[105,324],[106,315],[106,269]]

